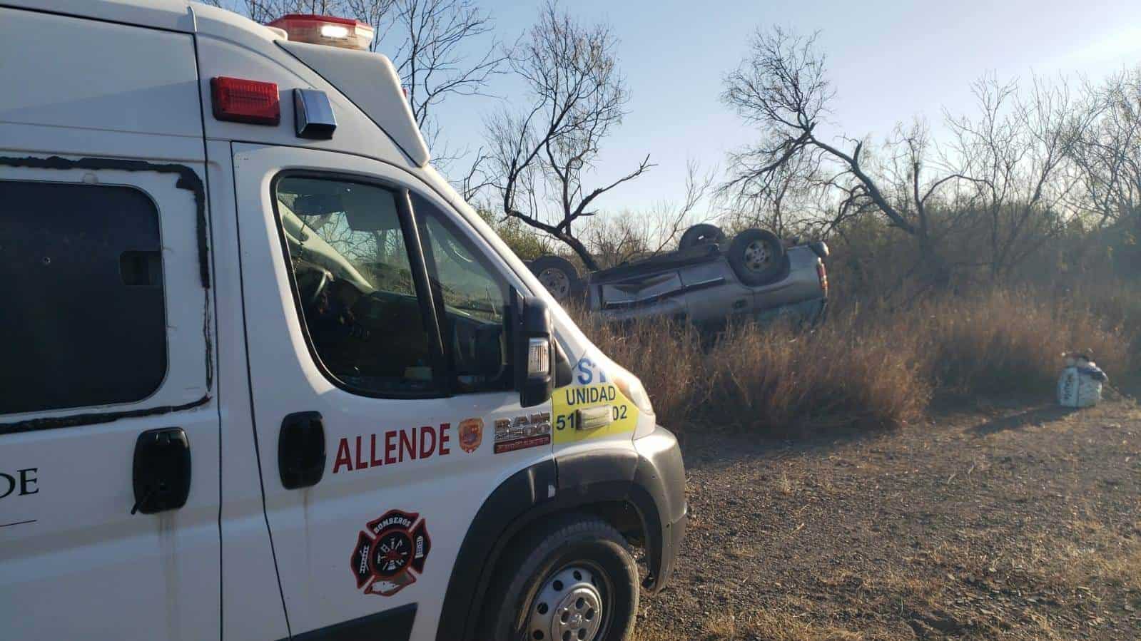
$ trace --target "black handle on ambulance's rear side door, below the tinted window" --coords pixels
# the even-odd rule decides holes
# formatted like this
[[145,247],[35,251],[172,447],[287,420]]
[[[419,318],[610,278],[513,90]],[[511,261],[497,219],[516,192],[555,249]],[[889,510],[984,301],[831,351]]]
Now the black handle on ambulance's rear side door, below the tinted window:
[[186,505],[191,495],[191,441],[183,428],[147,430],[135,441],[131,514],[154,514]]

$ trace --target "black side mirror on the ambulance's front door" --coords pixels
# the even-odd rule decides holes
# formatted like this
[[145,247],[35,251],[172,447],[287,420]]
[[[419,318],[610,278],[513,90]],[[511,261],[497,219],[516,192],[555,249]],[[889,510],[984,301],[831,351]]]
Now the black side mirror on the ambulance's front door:
[[519,405],[533,407],[547,403],[555,391],[551,313],[547,302],[512,290],[510,322]]

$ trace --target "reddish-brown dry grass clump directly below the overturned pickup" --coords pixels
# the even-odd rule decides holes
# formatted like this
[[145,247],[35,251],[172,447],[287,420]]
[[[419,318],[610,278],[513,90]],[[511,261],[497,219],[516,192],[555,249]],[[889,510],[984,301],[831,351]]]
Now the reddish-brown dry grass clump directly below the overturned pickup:
[[851,322],[815,332],[751,323],[711,339],[673,320],[612,325],[574,314],[594,344],[642,380],[667,425],[696,420],[779,435],[892,427],[916,417],[929,396],[906,346]]

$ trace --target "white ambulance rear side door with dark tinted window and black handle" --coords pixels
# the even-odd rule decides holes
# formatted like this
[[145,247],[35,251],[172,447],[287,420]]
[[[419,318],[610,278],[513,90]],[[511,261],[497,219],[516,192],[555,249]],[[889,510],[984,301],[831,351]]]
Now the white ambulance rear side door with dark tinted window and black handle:
[[0,157],[5,639],[218,638],[200,171]]

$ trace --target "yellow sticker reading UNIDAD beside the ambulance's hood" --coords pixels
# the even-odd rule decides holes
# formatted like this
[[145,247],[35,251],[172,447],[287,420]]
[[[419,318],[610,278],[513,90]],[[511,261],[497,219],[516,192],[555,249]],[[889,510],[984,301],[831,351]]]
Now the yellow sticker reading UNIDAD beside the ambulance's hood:
[[614,383],[558,388],[551,406],[556,444],[628,433],[638,424],[638,406]]

